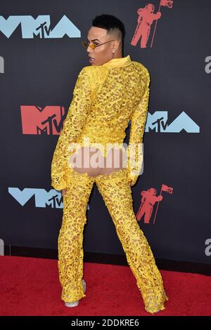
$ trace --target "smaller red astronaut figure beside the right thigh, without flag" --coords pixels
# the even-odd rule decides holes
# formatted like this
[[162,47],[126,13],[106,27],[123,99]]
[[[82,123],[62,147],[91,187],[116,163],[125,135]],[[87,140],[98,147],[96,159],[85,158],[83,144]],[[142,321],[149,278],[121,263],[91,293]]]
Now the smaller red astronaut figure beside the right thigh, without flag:
[[162,201],[162,195],[160,194],[159,196],[155,196],[156,193],[157,191],[155,188],[149,188],[147,191],[141,192],[141,206],[139,207],[139,211],[136,214],[136,219],[138,221],[140,221],[144,215],[144,223],[150,222],[155,202]]

